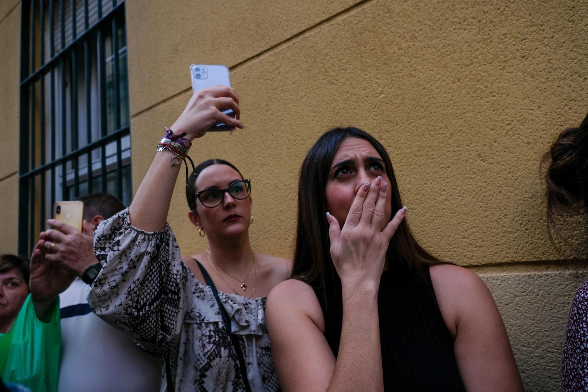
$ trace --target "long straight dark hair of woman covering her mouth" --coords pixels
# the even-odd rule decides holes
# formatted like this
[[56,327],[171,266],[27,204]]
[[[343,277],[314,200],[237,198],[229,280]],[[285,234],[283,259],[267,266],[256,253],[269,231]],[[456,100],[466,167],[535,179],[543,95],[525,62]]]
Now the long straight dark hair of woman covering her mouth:
[[[382,144],[368,132],[353,127],[331,129],[310,148],[302,163],[298,184],[298,228],[292,277],[318,290],[322,296],[319,301],[325,304],[326,311],[332,313],[333,317],[342,314],[342,297],[341,281],[329,251],[329,225],[325,217],[327,212],[325,187],[333,157],[343,140],[349,137],[367,140],[380,154],[390,179],[392,211],[395,213],[402,208],[390,157]],[[406,263],[419,271],[423,265],[442,263],[419,245],[411,234],[406,220],[402,221],[392,237],[386,257],[391,263]],[[324,308],[323,311],[325,311]]]

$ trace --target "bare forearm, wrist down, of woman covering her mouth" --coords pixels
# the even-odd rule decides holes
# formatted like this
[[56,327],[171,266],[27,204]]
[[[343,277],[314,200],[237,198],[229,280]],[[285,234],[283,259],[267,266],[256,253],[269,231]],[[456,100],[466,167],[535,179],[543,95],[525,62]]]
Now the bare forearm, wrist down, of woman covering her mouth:
[[377,285],[343,283],[339,354],[329,391],[383,391]]

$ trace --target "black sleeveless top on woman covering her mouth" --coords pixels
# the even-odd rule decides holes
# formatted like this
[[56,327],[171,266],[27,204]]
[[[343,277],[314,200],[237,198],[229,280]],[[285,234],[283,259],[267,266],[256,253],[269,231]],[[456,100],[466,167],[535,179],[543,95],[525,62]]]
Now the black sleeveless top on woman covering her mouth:
[[[315,294],[325,315],[323,294],[317,289]],[[465,391],[428,266],[419,271],[396,265],[385,271],[377,308],[384,390]],[[340,317],[325,316],[325,337],[335,356],[341,338],[340,310],[334,312]]]

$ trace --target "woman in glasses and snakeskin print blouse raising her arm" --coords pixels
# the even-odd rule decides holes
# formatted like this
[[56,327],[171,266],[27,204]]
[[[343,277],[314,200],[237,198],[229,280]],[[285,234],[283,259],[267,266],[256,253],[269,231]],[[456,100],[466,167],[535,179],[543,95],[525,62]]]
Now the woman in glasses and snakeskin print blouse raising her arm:
[[[219,110],[229,107],[236,118]],[[290,265],[251,249],[250,181],[222,160],[203,162],[187,179],[188,216],[208,251],[182,257],[166,224],[187,148],[215,122],[243,128],[239,117],[234,89],[196,92],[158,144],[131,207],[95,232],[102,270],[89,294],[92,310],[165,361],[168,391],[279,390],[265,297]]]

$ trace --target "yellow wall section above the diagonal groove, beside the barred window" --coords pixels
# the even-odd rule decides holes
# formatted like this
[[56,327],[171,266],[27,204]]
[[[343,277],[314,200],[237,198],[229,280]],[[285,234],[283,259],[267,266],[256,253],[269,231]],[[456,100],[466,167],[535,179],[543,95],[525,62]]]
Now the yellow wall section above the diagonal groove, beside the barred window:
[[191,64],[232,66],[358,0],[126,2],[131,114],[191,88]]

